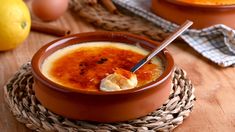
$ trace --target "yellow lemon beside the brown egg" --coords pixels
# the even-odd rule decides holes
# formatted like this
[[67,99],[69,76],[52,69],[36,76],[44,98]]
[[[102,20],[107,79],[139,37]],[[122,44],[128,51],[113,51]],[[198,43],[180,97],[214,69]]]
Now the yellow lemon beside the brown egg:
[[0,51],[16,48],[28,36],[30,13],[22,0],[0,0]]

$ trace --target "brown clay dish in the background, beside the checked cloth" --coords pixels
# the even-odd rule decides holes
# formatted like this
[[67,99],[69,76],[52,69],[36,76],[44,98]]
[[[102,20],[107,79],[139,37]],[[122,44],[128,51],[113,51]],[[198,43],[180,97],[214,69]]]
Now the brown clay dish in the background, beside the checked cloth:
[[194,22],[192,28],[202,29],[216,24],[235,28],[235,5],[198,5],[175,0],[152,0],[151,10],[158,16],[181,24]]

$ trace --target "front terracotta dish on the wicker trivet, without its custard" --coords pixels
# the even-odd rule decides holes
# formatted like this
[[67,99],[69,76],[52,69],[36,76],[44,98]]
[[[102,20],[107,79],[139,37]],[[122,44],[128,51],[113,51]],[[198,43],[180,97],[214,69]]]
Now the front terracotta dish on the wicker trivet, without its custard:
[[45,58],[53,52],[69,45],[96,41],[138,44],[147,50],[152,50],[158,45],[144,37],[121,32],[80,33],[46,44],[32,59],[34,90],[43,106],[71,119],[117,122],[147,115],[168,99],[174,61],[166,49],[158,55],[165,67],[163,74],[154,82],[130,90],[116,92],[71,90],[50,81],[42,74],[40,67]]

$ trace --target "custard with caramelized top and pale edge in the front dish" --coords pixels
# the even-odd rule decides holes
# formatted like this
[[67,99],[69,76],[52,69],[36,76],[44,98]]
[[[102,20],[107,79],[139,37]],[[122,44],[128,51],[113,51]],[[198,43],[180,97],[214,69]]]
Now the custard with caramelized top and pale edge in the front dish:
[[[116,42],[87,42],[60,49],[48,56],[41,71],[48,79],[71,89],[99,91],[100,82],[117,68],[130,70],[148,52]],[[156,80],[164,67],[159,58],[136,71],[137,87]]]

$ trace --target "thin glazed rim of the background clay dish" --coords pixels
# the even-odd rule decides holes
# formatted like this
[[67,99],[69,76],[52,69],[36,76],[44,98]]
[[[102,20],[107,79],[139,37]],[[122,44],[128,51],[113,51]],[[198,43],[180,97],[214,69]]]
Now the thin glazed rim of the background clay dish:
[[[165,1],[165,0],[163,0]],[[229,5],[202,5],[202,4],[194,4],[194,3],[187,3],[183,1],[176,1],[176,0],[166,0],[169,3],[180,5],[180,6],[187,6],[187,7],[197,7],[197,8],[204,8],[204,9],[231,9],[235,8],[235,4]]]

